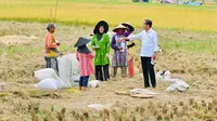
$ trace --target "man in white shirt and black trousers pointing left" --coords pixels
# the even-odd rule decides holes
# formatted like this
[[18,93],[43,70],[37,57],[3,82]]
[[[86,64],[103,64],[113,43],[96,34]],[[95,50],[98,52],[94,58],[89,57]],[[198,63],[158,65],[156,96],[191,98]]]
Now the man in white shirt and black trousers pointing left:
[[123,38],[123,40],[141,40],[141,63],[144,77],[144,88],[150,88],[149,76],[151,78],[152,88],[156,88],[156,79],[154,72],[154,60],[158,51],[157,33],[152,29],[152,21],[144,19],[143,31],[138,35]]

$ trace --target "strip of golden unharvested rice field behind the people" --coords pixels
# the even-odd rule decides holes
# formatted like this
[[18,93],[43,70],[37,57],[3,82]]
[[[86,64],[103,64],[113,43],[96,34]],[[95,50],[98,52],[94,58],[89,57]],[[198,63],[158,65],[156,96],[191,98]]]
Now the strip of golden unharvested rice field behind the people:
[[151,18],[158,28],[217,31],[217,5],[202,6],[132,3],[130,0],[60,0],[55,16],[54,0],[0,0],[0,19],[17,22],[59,22],[67,25],[94,25],[99,19],[112,26],[130,22],[140,27]]

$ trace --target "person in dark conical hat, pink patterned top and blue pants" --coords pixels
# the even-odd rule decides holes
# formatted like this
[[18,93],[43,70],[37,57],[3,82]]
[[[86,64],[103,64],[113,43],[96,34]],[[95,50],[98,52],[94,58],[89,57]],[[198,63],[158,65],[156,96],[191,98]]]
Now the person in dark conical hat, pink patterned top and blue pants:
[[92,58],[94,55],[90,52],[90,50],[86,46],[90,40],[80,37],[77,43],[74,45],[77,48],[76,57],[79,62],[80,69],[80,80],[79,80],[79,90],[86,90],[88,86],[89,77],[94,73]]

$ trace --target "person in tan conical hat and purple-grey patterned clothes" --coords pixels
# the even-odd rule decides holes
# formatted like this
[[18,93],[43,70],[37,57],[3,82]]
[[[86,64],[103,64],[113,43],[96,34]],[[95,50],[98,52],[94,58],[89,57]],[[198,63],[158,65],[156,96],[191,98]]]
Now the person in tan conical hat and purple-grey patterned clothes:
[[122,77],[125,78],[127,76],[127,66],[128,66],[128,53],[127,53],[127,44],[126,41],[118,41],[119,39],[125,37],[125,31],[127,27],[122,24],[118,25],[113,31],[115,35],[112,38],[111,46],[114,50],[113,53],[113,78],[117,76],[117,69],[122,69]]

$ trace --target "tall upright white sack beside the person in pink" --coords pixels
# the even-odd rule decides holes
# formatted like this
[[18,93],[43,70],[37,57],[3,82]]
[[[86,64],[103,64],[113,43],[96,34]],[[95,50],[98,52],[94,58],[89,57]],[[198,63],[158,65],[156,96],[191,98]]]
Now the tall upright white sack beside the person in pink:
[[79,68],[76,54],[67,54],[58,58],[59,75],[66,86],[75,85],[75,81],[79,80]]

